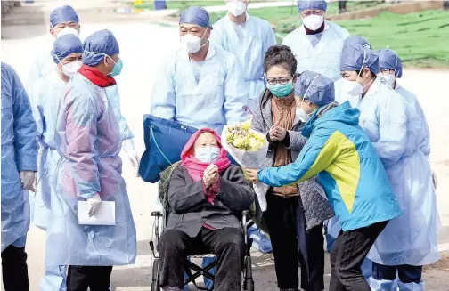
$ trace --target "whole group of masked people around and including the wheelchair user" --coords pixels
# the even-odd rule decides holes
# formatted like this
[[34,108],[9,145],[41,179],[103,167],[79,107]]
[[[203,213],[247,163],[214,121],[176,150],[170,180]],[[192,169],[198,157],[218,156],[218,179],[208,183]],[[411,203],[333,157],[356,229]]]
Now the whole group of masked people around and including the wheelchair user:
[[[216,255],[216,290],[241,289],[237,214],[255,195],[217,133],[250,112],[269,149],[264,169],[245,171],[265,185],[262,218],[279,289],[324,289],[322,228],[332,220],[341,230],[330,290],[424,289],[422,265],[439,258],[437,185],[423,110],[397,84],[399,56],[324,20],[325,1],[298,1],[303,24],[276,45],[248,2],[225,1],[228,13],[214,25],[205,9],[185,10],[181,48],[164,61],[151,93],[151,115],[200,129],[168,185],[160,286],[183,290],[184,260],[200,249]],[[4,287],[29,289],[31,219],[46,230],[41,290],[109,290],[112,266],[136,255],[118,157],[123,148],[138,166],[114,79],[123,62],[108,30],[81,42],[70,6],[55,9],[50,22],[53,49],[38,56],[27,90],[2,63]],[[36,190],[31,214],[28,190]],[[116,225],[79,225],[79,200],[89,215],[115,201]],[[366,260],[372,267],[363,276]]]

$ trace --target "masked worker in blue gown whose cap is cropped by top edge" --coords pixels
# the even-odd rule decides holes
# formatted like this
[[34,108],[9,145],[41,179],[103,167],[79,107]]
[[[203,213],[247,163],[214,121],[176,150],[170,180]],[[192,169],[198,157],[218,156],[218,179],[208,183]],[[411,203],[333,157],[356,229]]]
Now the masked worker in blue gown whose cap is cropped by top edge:
[[266,20],[249,16],[249,0],[225,0],[228,13],[214,24],[210,42],[235,54],[243,69],[248,86],[248,107],[257,108],[265,90],[264,57],[270,46],[276,45],[273,28]]

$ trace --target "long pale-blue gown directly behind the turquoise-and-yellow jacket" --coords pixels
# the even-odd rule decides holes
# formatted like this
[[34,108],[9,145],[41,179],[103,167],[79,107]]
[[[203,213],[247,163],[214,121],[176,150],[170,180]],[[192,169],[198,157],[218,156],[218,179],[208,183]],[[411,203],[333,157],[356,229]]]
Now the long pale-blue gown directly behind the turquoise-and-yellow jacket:
[[385,265],[423,265],[439,259],[432,174],[420,150],[420,118],[387,83],[376,78],[360,102],[360,125],[385,166],[403,214],[380,233],[368,258]]

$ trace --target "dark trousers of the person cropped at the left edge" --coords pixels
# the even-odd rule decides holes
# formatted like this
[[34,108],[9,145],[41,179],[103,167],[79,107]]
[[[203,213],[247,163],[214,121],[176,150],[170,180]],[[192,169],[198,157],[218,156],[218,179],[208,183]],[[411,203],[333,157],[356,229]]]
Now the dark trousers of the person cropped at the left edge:
[[6,247],[2,252],[5,291],[29,291],[27,253],[25,247]]

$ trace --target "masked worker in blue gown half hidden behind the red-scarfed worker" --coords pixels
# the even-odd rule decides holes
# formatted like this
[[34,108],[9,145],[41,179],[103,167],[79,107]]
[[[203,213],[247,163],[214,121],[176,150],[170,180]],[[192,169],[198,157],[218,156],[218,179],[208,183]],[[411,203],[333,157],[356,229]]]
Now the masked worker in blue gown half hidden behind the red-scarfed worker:
[[[69,34],[56,39],[53,44],[53,73],[39,79],[30,93],[31,107],[37,125],[40,144],[38,155],[37,190],[31,197],[31,222],[46,230],[51,217],[51,196],[55,192],[55,171],[60,160],[56,150],[56,118],[60,102],[67,91],[69,77],[81,67],[83,44],[78,36]],[[53,193],[53,196],[55,193]],[[66,289],[67,266],[45,265],[45,275],[40,282],[42,291]]]

